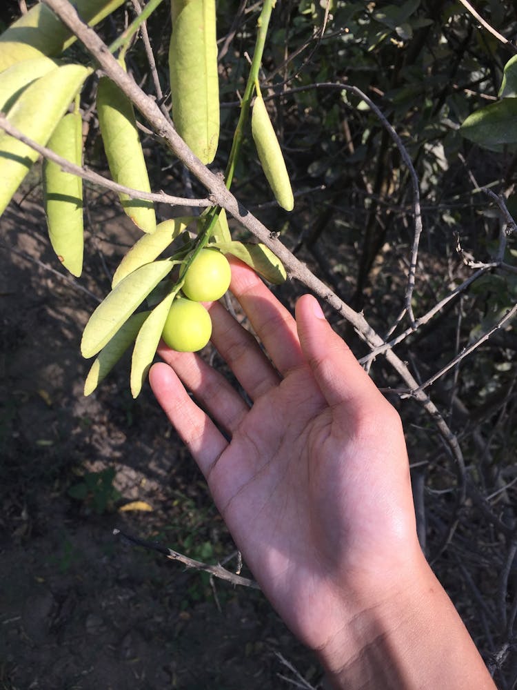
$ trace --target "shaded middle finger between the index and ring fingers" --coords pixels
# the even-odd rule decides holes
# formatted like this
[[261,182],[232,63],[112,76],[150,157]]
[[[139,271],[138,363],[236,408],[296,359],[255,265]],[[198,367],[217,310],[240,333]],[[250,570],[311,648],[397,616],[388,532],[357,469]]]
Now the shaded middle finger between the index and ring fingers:
[[280,377],[254,336],[219,302],[213,302],[209,311],[212,317],[212,343],[247,395],[256,400],[270,388],[278,386]]

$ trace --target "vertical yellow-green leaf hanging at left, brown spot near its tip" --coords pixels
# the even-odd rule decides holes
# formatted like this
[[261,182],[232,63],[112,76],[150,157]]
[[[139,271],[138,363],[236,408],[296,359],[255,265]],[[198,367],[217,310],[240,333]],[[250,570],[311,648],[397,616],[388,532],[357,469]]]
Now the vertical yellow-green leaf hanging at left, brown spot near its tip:
[[[48,148],[80,166],[83,155],[81,113],[69,112],[55,128]],[[57,163],[43,162],[43,205],[50,244],[72,275],[83,270],[83,180],[63,172]]]

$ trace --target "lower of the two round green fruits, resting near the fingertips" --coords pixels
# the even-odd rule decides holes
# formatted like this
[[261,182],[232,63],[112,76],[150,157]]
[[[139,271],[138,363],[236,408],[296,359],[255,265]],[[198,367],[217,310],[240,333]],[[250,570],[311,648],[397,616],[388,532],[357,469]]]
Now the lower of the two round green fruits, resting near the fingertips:
[[212,335],[212,320],[203,304],[177,297],[165,319],[161,337],[171,350],[197,352]]

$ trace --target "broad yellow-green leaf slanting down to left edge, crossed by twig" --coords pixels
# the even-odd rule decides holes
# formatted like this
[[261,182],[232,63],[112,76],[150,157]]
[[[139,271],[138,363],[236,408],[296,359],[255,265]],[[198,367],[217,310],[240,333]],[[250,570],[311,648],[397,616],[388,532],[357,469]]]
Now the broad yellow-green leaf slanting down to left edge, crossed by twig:
[[[14,103],[8,112],[10,123],[44,146],[91,71],[81,65],[65,65],[43,75]],[[37,157],[26,144],[5,132],[0,134],[0,215]]]

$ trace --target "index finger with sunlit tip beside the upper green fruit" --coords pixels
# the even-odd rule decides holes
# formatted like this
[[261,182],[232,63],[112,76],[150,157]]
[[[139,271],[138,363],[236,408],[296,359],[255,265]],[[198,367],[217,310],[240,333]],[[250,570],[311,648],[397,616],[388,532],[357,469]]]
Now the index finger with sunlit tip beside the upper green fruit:
[[233,258],[231,264],[230,290],[239,300],[274,366],[282,375],[301,366],[304,359],[292,315],[252,268]]

